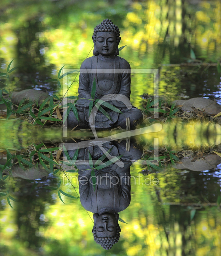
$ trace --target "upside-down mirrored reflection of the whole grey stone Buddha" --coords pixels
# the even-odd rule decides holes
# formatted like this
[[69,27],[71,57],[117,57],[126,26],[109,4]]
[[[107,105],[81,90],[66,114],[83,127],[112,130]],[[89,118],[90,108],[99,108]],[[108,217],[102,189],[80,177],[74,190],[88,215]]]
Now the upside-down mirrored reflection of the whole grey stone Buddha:
[[[68,143],[65,143],[67,152],[72,158],[76,149],[68,150]],[[130,150],[126,151],[126,142],[122,140],[117,142],[106,142],[102,147],[107,151],[112,148],[109,153],[111,156],[123,155],[120,160],[123,163],[121,167],[115,163],[95,171],[96,186],[95,190],[91,181],[91,170],[87,164],[78,164],[78,181],[80,201],[84,209],[93,212],[94,226],[92,233],[96,243],[100,244],[104,249],[108,250],[118,242],[120,238],[121,228],[118,224],[119,214],[125,210],[130,204],[130,166],[132,162],[138,160],[142,156],[136,143],[130,142]],[[91,146],[80,148],[77,160],[89,159],[89,152],[94,161],[98,160],[103,151],[99,146]],[[64,154],[64,152],[63,152]],[[103,160],[106,162],[106,160]]]

